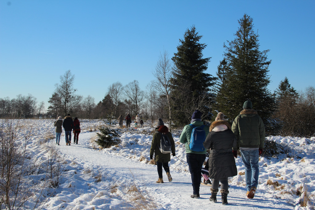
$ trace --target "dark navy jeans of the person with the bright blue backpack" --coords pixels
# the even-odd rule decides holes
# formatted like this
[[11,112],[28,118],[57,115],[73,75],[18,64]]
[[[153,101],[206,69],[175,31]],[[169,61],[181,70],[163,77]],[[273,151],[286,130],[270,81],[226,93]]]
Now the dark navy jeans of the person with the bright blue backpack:
[[206,159],[206,154],[187,153],[186,160],[189,166],[189,172],[192,177],[192,190],[194,195],[199,195],[201,182],[201,169],[203,162]]

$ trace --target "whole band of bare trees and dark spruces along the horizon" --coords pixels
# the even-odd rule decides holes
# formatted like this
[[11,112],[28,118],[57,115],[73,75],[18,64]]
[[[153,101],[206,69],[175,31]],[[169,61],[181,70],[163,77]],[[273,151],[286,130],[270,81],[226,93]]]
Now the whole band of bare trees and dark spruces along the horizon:
[[[254,31],[253,19],[244,14],[238,20],[238,30],[232,41],[223,43],[223,59],[217,66],[216,76],[206,73],[211,57],[204,58],[206,44],[195,26],[188,28],[179,39],[177,52],[169,58],[163,51],[157,61],[151,81],[141,90],[134,80],[123,86],[119,81],[109,85],[104,99],[77,94],[73,87],[74,75],[68,70],[55,84],[46,117],[72,116],[87,119],[140,114],[145,120],[162,117],[170,128],[190,122],[192,112],[203,112],[203,119],[213,121],[218,112],[232,123],[242,110],[244,101],[250,100],[258,111],[269,135],[314,136],[315,90],[308,87],[297,93],[288,78],[280,82],[271,93],[267,58],[269,50],[260,50],[259,35]],[[17,99],[0,99],[1,117],[35,117],[43,112],[36,98],[29,95]],[[28,99],[30,98],[30,99]]]

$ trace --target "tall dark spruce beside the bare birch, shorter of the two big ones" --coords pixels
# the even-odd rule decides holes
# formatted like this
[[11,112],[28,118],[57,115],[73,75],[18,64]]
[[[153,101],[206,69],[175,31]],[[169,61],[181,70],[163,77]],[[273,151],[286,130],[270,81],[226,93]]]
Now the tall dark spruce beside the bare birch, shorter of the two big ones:
[[203,58],[202,50],[207,45],[199,43],[201,38],[195,26],[187,29],[172,58],[175,71],[171,85],[177,104],[174,118],[178,123],[187,123],[195,109],[202,111],[204,118],[210,118],[209,105],[214,96],[210,88],[214,85],[215,78],[204,72],[211,58]]

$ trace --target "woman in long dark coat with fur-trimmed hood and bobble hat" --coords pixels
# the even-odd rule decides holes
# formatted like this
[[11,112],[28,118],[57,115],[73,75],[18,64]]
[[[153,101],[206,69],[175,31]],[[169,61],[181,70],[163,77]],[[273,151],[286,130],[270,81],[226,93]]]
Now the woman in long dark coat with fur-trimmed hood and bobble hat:
[[209,134],[203,142],[209,152],[209,178],[212,179],[210,201],[216,202],[216,195],[221,182],[222,204],[227,204],[227,194],[229,194],[228,177],[237,175],[237,168],[232,152],[232,147],[236,147],[236,138],[231,130],[231,125],[224,119],[224,114],[219,112],[215,121],[209,128]]

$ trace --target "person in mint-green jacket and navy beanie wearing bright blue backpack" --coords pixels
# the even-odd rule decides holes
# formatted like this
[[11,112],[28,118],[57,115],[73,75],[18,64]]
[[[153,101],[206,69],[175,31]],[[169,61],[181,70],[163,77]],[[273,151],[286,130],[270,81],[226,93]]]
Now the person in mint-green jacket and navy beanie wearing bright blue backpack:
[[[180,134],[180,143],[185,144],[185,150],[186,150],[186,160],[189,167],[189,172],[191,174],[192,178],[192,189],[193,194],[190,196],[191,198],[199,198],[199,188],[200,188],[200,182],[201,182],[201,169],[203,166],[203,162],[206,159],[206,152],[207,149],[205,149],[202,145],[204,142],[206,136],[209,133],[209,126],[206,126],[203,124],[203,121],[201,121],[202,113],[199,110],[195,110],[192,114],[192,120],[191,124],[185,125],[182,133]],[[196,149],[191,149],[191,140],[192,140],[192,131],[193,128],[200,127],[201,131],[203,130],[204,137],[203,139],[196,139],[198,142],[201,142],[201,149],[198,149],[199,151],[196,151]],[[202,131],[202,132],[203,132]]]

